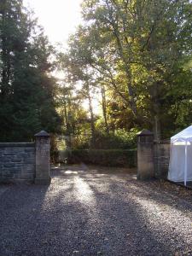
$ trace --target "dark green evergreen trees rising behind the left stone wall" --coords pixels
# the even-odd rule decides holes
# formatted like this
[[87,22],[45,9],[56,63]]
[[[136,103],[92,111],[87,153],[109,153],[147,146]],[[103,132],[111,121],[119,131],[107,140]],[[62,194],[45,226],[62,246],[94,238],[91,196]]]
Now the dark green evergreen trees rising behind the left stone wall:
[[0,3],[0,140],[27,141],[42,129],[60,131],[52,47],[22,1]]

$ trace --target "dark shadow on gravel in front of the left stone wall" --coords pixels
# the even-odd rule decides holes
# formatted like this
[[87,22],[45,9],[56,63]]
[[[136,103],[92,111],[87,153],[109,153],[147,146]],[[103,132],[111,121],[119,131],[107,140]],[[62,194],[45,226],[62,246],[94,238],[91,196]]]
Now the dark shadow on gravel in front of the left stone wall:
[[0,255],[28,255],[27,247],[35,236],[49,187],[22,184],[8,187],[0,197]]

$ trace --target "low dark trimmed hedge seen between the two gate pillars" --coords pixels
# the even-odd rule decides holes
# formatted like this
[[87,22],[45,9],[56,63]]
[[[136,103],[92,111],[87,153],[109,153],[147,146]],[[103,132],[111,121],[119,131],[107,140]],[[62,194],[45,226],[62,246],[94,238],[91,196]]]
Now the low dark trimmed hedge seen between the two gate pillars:
[[137,149],[72,149],[68,151],[69,164],[99,166],[137,166]]

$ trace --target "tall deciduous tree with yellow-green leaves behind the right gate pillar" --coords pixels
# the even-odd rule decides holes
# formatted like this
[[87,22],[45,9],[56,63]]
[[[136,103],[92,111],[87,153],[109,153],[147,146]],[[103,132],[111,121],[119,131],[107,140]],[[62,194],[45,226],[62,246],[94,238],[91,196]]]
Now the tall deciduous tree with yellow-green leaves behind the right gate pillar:
[[[137,123],[152,127],[160,139],[160,120],[165,115],[161,102],[172,83],[167,78],[191,54],[191,3],[94,0],[84,1],[83,13],[88,22],[85,42],[90,43],[86,49],[89,53],[91,49],[92,57],[88,60],[102,69],[113,60],[109,63],[113,63],[113,87],[128,102]],[[103,53],[111,49],[100,62],[98,46]]]

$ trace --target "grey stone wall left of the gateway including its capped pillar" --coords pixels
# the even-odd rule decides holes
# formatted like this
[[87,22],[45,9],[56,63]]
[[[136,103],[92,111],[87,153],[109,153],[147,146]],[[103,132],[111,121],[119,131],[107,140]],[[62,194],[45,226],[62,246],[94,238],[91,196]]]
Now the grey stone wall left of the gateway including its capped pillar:
[[50,183],[46,131],[35,135],[35,143],[0,143],[0,183]]

